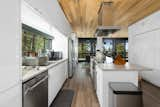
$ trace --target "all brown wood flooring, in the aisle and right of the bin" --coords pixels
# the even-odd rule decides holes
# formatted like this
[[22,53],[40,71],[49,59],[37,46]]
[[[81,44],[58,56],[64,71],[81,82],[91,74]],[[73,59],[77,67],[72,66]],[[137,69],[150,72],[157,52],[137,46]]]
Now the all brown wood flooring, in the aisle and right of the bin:
[[[141,82],[143,107],[160,107],[160,88],[146,81]],[[89,74],[89,64],[78,64],[72,79],[68,79],[63,89],[74,90],[72,107],[100,107]]]

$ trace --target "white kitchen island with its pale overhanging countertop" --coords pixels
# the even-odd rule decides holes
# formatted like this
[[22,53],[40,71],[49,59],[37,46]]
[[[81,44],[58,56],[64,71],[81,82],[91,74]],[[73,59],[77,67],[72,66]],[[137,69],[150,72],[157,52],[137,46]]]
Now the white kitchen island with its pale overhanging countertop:
[[110,82],[130,82],[138,87],[139,72],[150,71],[151,69],[130,63],[126,63],[125,65],[97,63],[95,70],[97,72],[96,93],[100,107],[110,107]]

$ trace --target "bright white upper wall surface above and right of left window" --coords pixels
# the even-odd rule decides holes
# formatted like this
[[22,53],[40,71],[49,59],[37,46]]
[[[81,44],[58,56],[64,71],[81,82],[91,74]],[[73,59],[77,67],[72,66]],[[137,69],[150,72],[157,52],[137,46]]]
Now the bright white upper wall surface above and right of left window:
[[21,11],[22,23],[27,24],[44,33],[54,36],[54,39],[52,42],[53,49],[55,51],[62,51],[63,57],[68,58],[68,37],[67,36],[69,34],[64,35],[64,33],[60,32],[59,29],[55,28],[55,26],[53,26],[52,23],[46,20],[42,14],[40,14],[27,2],[22,1],[21,7],[22,7],[22,11]]

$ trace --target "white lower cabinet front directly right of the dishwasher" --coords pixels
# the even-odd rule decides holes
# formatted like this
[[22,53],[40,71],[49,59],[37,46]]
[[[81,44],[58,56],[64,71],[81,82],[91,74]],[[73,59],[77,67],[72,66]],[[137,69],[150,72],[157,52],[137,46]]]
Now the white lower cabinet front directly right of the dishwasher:
[[48,70],[49,79],[48,79],[48,97],[49,97],[49,106],[52,101],[55,99],[58,92],[61,90],[65,80],[68,75],[68,60],[55,65],[53,68]]

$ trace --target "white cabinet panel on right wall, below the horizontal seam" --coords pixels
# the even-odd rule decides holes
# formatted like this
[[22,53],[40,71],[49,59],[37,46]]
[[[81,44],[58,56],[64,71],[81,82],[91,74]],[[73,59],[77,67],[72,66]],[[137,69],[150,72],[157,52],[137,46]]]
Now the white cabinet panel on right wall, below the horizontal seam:
[[131,37],[129,61],[152,69],[160,69],[160,29]]

